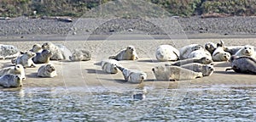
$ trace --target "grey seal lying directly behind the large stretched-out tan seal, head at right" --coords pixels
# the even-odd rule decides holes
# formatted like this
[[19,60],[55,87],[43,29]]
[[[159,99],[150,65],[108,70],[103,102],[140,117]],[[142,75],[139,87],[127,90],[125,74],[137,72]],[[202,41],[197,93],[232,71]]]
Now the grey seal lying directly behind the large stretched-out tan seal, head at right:
[[184,64],[180,67],[184,68],[184,69],[190,69],[195,72],[201,72],[203,76],[210,76],[210,75],[212,75],[213,71],[215,70],[213,68],[213,65],[211,65],[211,64],[192,63],[192,64]]

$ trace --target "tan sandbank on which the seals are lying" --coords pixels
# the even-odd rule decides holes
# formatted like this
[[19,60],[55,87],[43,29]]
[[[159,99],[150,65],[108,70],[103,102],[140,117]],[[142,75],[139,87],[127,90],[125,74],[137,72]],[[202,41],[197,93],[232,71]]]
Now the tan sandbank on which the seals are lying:
[[[151,69],[155,65],[166,64],[167,62],[158,62],[154,56],[156,47],[160,44],[171,44],[174,47],[183,47],[191,43],[205,44],[206,42],[219,42],[220,39],[180,39],[180,40],[101,40],[101,41],[53,41],[55,44],[63,44],[69,50],[74,48],[85,48],[92,53],[92,59],[87,62],[70,62],[50,61],[55,64],[57,76],[54,78],[39,78],[36,68],[27,68],[26,81],[23,87],[64,87],[73,88],[80,87],[89,89],[91,87],[104,87],[109,89],[119,88],[136,88],[140,86],[151,86],[156,88],[189,88],[189,87],[212,87],[212,86],[255,86],[256,75],[238,74],[234,71],[226,72],[225,69],[230,67],[227,62],[215,62],[216,71],[213,75],[203,77],[196,80],[180,80],[180,81],[157,81]],[[245,45],[250,44],[256,46],[254,38],[224,38],[226,45]],[[29,50],[33,44],[41,42],[1,42],[2,44],[11,44],[17,46],[21,51]],[[148,74],[147,80],[141,84],[131,84],[124,81],[121,72],[115,75],[109,75],[102,72],[100,61],[114,55],[122,48],[133,45],[137,49],[139,60],[137,61],[120,61],[120,64],[126,68],[141,69]],[[70,54],[66,51],[67,55]],[[1,60],[1,67],[11,65],[10,60]]]

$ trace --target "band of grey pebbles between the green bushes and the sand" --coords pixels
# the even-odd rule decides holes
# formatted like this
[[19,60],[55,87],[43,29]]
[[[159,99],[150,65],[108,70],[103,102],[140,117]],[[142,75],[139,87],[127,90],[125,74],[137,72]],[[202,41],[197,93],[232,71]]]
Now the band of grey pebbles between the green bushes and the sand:
[[[73,19],[73,22],[56,19],[29,19],[22,16],[14,19],[1,19],[0,36],[111,35],[113,33],[253,35],[256,33],[255,23],[256,17],[249,16],[204,19],[200,16],[193,16],[189,18],[172,17],[164,20]],[[167,28],[167,32],[165,28]]]

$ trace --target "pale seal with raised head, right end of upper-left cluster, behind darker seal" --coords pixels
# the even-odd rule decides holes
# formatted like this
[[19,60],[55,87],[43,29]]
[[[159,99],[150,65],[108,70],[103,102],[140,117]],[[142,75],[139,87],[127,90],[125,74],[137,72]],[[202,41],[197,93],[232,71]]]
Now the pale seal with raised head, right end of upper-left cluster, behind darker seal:
[[52,42],[45,42],[42,45],[42,48],[43,49],[48,49],[52,53],[51,57],[49,58],[51,60],[63,60],[63,59],[65,59],[64,52],[61,50],[61,48],[56,46]]

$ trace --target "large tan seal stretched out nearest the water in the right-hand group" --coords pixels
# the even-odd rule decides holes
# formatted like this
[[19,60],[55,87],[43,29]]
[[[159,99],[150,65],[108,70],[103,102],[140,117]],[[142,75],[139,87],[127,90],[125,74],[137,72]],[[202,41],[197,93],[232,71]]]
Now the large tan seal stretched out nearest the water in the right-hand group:
[[155,66],[152,71],[156,80],[166,80],[166,81],[175,81],[175,80],[193,80],[196,78],[203,77],[201,72],[195,72],[189,69],[183,69],[178,66],[165,66],[159,65]]

